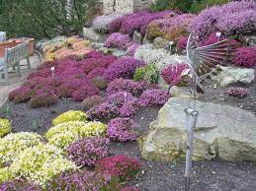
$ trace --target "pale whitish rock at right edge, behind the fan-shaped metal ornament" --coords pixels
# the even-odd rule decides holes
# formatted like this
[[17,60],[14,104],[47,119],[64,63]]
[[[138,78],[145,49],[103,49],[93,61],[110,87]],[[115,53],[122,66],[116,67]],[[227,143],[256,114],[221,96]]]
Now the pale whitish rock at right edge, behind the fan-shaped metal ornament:
[[220,69],[221,71],[217,75],[212,76],[212,80],[217,82],[221,87],[238,82],[250,84],[255,78],[253,69],[223,66]]

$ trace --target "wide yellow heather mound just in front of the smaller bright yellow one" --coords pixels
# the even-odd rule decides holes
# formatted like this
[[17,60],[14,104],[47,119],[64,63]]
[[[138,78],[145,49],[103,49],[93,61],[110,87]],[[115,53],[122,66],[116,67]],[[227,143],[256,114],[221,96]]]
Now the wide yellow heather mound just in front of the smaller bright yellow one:
[[100,122],[70,121],[51,127],[45,134],[48,144],[65,149],[74,141],[86,137],[103,137],[107,125]]

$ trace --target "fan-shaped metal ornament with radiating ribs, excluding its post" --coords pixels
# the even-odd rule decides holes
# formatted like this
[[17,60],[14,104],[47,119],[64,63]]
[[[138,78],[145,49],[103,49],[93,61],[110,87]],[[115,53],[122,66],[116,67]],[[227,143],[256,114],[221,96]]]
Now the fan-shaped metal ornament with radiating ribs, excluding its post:
[[198,93],[204,93],[201,85],[204,79],[215,72],[219,65],[223,66],[231,61],[235,47],[236,44],[230,39],[199,47],[195,37],[190,34],[187,42],[187,57]]

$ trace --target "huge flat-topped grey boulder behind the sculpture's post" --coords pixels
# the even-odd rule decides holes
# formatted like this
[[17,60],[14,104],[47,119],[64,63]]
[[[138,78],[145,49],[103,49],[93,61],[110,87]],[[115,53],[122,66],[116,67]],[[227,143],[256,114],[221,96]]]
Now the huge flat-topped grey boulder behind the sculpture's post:
[[[186,154],[184,109],[189,98],[171,97],[149,133],[139,139],[144,159],[172,160]],[[191,101],[193,104],[193,101]],[[196,101],[199,111],[193,159],[256,162],[256,117],[237,107]]]

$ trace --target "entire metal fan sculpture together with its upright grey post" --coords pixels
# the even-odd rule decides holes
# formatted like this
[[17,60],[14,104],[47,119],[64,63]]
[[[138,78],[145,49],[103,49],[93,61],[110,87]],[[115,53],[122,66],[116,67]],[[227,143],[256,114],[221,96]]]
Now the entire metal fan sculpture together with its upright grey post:
[[[221,33],[220,33],[221,34]],[[219,33],[216,36],[220,37]],[[190,101],[188,108],[185,109],[186,113],[186,126],[188,131],[187,142],[187,155],[186,155],[186,169],[185,169],[185,190],[190,191],[190,173],[192,166],[193,156],[193,141],[194,130],[197,125],[197,119],[199,112],[196,110],[196,92],[204,93],[201,82],[210,76],[219,65],[226,65],[230,62],[235,50],[235,43],[229,39],[224,39],[213,43],[211,45],[198,47],[196,39],[190,34],[187,43],[187,57],[190,65],[190,76],[192,77],[192,84],[195,99],[194,107],[190,107]]]

